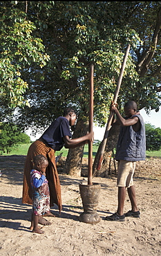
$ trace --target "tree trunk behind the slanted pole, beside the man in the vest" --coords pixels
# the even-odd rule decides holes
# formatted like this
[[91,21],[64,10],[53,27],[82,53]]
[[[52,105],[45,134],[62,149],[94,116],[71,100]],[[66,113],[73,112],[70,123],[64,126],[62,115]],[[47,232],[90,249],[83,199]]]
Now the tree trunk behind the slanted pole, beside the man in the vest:
[[111,156],[113,156],[113,149],[117,145],[119,131],[120,131],[120,125],[113,125],[111,127],[111,129],[109,130],[106,147],[104,149],[102,165],[101,165],[100,170],[97,170],[97,163],[98,163],[98,159],[100,156],[102,143],[103,143],[103,140],[102,140],[102,143],[100,144],[100,146],[97,150],[97,154],[95,156],[95,161],[93,163],[93,176],[96,176],[96,177],[107,177],[108,176],[110,163],[111,163]]

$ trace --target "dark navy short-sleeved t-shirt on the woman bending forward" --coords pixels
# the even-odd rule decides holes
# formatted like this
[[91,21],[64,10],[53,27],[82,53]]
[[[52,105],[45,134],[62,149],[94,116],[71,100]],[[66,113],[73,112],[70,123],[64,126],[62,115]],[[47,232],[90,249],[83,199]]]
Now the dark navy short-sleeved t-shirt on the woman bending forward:
[[59,151],[64,147],[64,136],[72,137],[69,121],[63,116],[59,116],[59,118],[54,120],[48,129],[44,131],[41,138],[46,141],[49,147],[53,148],[55,151]]

